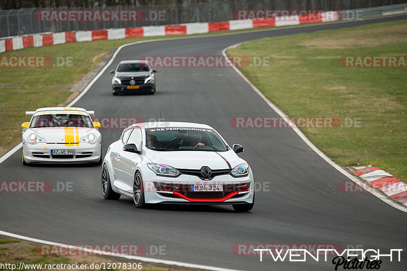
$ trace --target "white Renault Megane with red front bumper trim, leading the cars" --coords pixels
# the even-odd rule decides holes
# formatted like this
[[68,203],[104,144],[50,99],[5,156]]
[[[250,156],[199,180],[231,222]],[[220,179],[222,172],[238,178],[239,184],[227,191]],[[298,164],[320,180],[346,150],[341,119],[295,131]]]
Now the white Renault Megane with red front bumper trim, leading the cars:
[[102,167],[105,199],[131,197],[137,207],[153,203],[254,205],[250,166],[210,126],[138,123],[110,144]]

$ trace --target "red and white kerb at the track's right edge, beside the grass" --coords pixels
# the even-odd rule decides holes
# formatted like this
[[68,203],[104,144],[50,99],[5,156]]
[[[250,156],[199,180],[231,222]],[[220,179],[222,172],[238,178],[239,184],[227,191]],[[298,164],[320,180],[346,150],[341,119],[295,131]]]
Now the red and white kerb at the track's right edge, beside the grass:
[[378,167],[351,167],[352,174],[368,182],[386,196],[407,206],[407,184]]

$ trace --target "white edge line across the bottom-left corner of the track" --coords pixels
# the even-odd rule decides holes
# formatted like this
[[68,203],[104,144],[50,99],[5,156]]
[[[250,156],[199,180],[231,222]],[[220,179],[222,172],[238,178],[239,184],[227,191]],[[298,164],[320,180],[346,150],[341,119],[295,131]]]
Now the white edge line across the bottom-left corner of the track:
[[[18,235],[14,233],[10,233],[7,231],[2,231],[0,230],[0,235],[5,235],[9,236],[12,238],[18,238],[30,242],[35,242],[39,244],[45,244],[45,245],[50,245],[50,246],[63,246],[63,247],[68,247],[72,250],[79,250],[79,251],[84,251],[84,252],[89,252],[89,253],[95,253],[95,250],[92,249],[86,249],[83,247],[75,247],[72,245],[67,245],[67,244],[62,244],[62,243],[55,243],[55,242],[49,242],[46,240],[41,240],[41,239],[36,239],[36,238],[31,238],[31,237],[26,237],[23,235]],[[222,267],[215,267],[215,266],[209,266],[209,265],[202,265],[202,264],[194,264],[194,263],[187,263],[187,262],[180,262],[180,261],[170,261],[170,260],[160,260],[160,259],[155,259],[155,258],[148,258],[148,257],[142,257],[142,256],[133,256],[133,255],[117,255],[112,253],[106,253],[103,252],[102,250],[98,250],[97,253],[106,255],[106,256],[114,256],[114,257],[121,257],[121,258],[126,258],[129,260],[137,260],[137,261],[144,261],[144,262],[152,262],[152,263],[162,263],[162,264],[168,264],[168,265],[176,265],[180,267],[188,267],[188,268],[198,268],[198,269],[205,269],[205,270],[214,270],[214,271],[236,271],[236,269],[228,269],[228,268],[222,268]]]

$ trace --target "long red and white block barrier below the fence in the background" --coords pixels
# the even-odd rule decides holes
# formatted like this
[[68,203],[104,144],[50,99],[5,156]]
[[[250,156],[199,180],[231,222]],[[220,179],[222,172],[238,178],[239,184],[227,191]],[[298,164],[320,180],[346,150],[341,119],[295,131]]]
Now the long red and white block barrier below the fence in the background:
[[340,19],[337,11],[328,11],[315,15],[276,17],[267,19],[230,20],[224,22],[202,22],[178,25],[142,26],[92,31],[41,33],[34,35],[8,37],[0,39],[0,53],[28,47],[64,44],[69,42],[119,40],[134,37],[155,37],[170,35],[205,34],[217,31],[250,29],[258,27],[276,27],[305,23],[329,22]]

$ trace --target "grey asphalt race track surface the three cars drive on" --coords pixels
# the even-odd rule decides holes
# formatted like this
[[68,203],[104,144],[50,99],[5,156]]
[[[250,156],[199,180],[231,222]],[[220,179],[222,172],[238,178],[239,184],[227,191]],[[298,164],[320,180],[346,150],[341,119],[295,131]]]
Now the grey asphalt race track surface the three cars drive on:
[[[75,106],[95,110],[97,117],[149,120],[158,119],[161,111],[165,121],[211,125],[230,145],[245,147],[240,156],[261,185],[253,210],[235,213],[227,205],[137,209],[132,199],[103,199],[100,166],[23,166],[19,150],[0,164],[1,180],[45,180],[54,188],[58,182],[72,182],[73,191],[1,193],[0,230],[64,244],[140,244],[147,257],[244,270],[334,270],[334,265],[312,259],[274,262],[270,256],[260,262],[259,256],[232,253],[235,244],[338,244],[383,253],[406,249],[406,214],[370,193],[339,191],[339,183],[348,179],[293,130],[230,126],[236,116],[278,116],[232,68],[157,68],[155,95],[112,96],[108,73],[122,59],[221,55],[225,47],[248,40],[400,19],[407,16],[124,47]],[[122,129],[100,131],[106,153]],[[165,246],[165,255],[151,255],[150,246]],[[405,270],[405,251],[401,257],[400,263],[385,260],[380,269]]]

